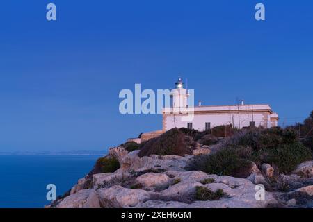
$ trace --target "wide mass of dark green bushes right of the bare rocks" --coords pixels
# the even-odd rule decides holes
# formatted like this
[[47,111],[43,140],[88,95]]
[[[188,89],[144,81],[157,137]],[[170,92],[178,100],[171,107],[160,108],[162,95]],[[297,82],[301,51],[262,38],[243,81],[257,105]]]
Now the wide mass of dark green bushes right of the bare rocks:
[[312,153],[299,142],[294,129],[255,128],[239,131],[212,155],[194,157],[188,169],[246,178],[252,162],[258,167],[268,163],[282,173],[289,173],[307,160],[312,160]]

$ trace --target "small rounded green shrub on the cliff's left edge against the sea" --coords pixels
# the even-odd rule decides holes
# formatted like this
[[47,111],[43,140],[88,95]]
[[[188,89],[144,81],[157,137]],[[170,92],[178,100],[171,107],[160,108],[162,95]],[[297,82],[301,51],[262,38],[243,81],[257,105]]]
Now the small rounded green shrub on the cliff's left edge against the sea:
[[120,168],[120,163],[115,157],[101,157],[97,160],[95,167],[90,174],[113,173]]

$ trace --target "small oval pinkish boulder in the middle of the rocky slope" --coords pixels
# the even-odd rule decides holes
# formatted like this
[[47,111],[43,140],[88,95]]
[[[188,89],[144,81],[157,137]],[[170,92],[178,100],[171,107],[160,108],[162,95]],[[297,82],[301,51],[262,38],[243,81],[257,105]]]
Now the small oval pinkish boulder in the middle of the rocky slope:
[[157,187],[167,185],[170,182],[170,178],[165,173],[145,173],[138,176],[135,182],[144,187]]

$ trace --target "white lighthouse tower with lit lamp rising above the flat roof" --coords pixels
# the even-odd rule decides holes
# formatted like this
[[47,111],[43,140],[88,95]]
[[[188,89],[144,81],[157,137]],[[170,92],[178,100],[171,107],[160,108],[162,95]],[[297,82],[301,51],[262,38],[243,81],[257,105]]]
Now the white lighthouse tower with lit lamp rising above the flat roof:
[[178,78],[175,83],[175,89],[172,89],[171,93],[171,108],[173,110],[181,110],[188,107],[188,91],[184,89],[184,83],[182,78]]

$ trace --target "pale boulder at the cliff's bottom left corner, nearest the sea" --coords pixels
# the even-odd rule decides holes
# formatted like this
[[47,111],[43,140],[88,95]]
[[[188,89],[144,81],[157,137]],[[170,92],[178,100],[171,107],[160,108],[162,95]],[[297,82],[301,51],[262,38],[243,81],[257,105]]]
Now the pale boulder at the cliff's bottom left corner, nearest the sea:
[[82,189],[61,200],[57,208],[99,208],[99,197],[95,189]]

